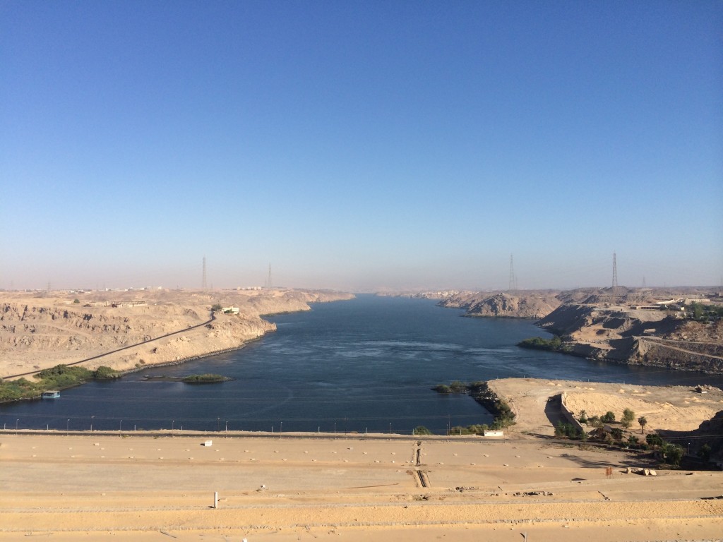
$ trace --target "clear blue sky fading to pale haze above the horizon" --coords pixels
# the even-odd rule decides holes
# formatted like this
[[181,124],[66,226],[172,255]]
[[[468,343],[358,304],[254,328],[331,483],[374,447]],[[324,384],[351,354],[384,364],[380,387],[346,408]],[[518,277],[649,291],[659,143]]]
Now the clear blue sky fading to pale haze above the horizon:
[[0,288],[719,285],[720,1],[0,1]]

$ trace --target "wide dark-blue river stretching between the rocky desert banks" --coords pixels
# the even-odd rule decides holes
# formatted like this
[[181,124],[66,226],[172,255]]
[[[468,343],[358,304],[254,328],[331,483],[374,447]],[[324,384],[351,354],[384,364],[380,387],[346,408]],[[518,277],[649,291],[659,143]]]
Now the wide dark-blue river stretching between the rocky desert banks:
[[[430,388],[504,377],[721,386],[723,378],[629,367],[516,344],[547,335],[531,320],[462,318],[434,301],[359,296],[270,318],[278,331],[246,348],[117,382],[90,382],[58,400],[0,405],[7,429],[194,429],[411,433],[489,423],[466,395]],[[223,384],[145,381],[218,373]]]

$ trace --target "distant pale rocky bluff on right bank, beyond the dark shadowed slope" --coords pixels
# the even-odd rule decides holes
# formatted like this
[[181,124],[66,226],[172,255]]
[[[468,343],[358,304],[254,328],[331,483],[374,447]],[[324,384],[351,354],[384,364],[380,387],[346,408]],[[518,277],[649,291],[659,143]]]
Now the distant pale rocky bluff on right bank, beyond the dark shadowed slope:
[[440,306],[466,309],[465,316],[542,318],[560,306],[555,292],[463,293],[440,301]]

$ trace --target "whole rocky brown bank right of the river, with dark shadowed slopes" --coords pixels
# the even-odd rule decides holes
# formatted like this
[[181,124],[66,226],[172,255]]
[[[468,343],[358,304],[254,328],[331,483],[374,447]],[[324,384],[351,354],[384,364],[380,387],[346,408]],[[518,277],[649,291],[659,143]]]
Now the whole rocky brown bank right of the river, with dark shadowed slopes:
[[[440,292],[440,306],[469,317],[532,318],[583,358],[723,374],[720,288],[578,288]],[[719,314],[696,319],[693,305]],[[700,307],[699,307],[700,309]]]

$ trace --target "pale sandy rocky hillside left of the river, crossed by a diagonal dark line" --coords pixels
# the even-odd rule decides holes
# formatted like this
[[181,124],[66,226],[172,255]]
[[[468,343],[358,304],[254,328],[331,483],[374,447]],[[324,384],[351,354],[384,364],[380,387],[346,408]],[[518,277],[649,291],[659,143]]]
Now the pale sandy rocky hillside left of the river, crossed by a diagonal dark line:
[[[348,299],[325,291],[132,291],[0,297],[0,377],[88,360],[127,371],[241,348],[275,330],[268,314]],[[238,307],[238,314],[211,306]],[[94,359],[89,359],[94,358]]]

